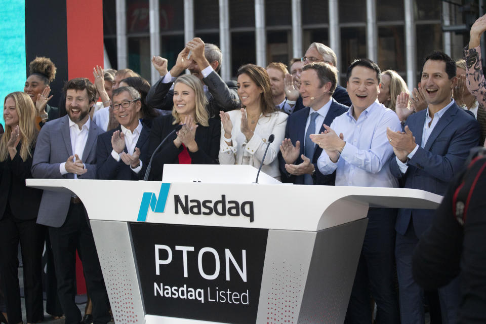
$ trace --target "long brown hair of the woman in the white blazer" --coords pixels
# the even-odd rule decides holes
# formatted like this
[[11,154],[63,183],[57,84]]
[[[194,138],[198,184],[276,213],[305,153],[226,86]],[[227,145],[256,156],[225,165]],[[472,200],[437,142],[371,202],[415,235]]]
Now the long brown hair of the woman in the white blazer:
[[276,111],[275,105],[273,104],[270,77],[268,76],[267,70],[255,64],[245,64],[238,68],[236,77],[240,74],[248,75],[258,87],[262,88],[263,93],[260,97],[262,113],[266,115]]

